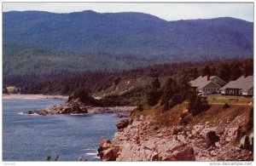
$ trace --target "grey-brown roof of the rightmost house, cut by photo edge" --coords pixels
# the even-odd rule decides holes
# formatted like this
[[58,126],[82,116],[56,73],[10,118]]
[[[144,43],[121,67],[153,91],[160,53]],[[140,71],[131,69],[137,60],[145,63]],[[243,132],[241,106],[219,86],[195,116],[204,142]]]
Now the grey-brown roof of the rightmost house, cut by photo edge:
[[242,89],[244,91],[247,91],[249,89],[253,88],[253,76],[241,76],[237,78],[235,81],[230,81],[230,83],[227,83],[222,90],[224,89]]

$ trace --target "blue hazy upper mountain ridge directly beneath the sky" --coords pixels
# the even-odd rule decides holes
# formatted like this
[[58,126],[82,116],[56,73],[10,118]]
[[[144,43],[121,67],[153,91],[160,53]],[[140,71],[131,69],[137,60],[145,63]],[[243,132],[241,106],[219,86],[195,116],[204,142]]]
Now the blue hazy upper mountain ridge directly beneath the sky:
[[234,18],[166,21],[142,13],[14,11],[3,13],[3,43],[146,59],[237,57],[253,54],[253,23]]

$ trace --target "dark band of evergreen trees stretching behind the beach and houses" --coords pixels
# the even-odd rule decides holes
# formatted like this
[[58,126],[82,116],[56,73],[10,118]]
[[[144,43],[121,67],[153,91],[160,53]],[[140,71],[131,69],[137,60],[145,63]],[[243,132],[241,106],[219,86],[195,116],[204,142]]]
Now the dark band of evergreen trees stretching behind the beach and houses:
[[[241,75],[253,75],[253,59],[169,63],[116,72],[62,72],[48,75],[3,76],[3,88],[13,85],[21,89],[21,94],[72,94],[75,89],[85,87],[92,93],[96,93],[117,85],[124,79],[172,77],[168,86],[174,86],[173,83],[178,86],[187,86],[190,80],[201,75],[216,75],[225,82],[235,80]],[[174,92],[165,95],[176,93],[175,89],[173,90]]]

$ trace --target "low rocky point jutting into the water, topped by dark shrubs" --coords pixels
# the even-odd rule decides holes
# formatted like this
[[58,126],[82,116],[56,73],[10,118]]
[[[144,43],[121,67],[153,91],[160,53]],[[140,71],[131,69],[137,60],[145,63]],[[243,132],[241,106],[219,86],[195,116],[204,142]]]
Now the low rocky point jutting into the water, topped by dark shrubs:
[[[79,100],[72,100],[72,101],[66,101],[65,103],[58,105],[58,106],[49,106],[45,109],[40,110],[32,110],[28,112],[24,112],[24,114],[27,115],[57,115],[57,114],[70,114],[70,115],[76,115],[76,114],[100,114],[100,113],[122,113],[121,115],[124,115],[125,113],[129,113],[132,110],[135,109],[135,106],[113,106],[113,107],[100,107],[100,106],[87,106],[84,105],[83,102]],[[119,117],[120,114],[117,116]]]

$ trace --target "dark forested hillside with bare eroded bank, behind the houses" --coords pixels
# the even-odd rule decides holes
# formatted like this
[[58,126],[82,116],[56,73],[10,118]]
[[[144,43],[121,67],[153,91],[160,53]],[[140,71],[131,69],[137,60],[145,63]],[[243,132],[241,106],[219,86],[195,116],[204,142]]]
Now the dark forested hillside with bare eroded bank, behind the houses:
[[[21,89],[22,94],[72,94],[84,87],[98,98],[119,95],[133,105],[146,102],[150,84],[159,78],[163,91],[166,80],[174,78],[177,83],[187,85],[190,80],[205,73],[221,77],[226,82],[236,80],[241,75],[253,75],[253,60],[224,60],[207,62],[181,62],[140,67],[128,71],[115,72],[74,72],[59,75],[6,76],[3,87],[10,84]],[[172,86],[168,86],[172,87]],[[180,91],[180,90],[179,90]]]

